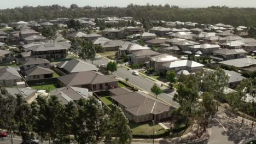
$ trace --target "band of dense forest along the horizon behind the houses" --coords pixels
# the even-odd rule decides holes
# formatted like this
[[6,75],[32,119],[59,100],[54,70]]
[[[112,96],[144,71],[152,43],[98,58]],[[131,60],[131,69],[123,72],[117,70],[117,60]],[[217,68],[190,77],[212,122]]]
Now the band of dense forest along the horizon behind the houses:
[[60,5],[2,9],[0,21],[29,21],[46,19],[52,20],[58,17],[106,17],[106,16],[132,16],[136,20],[149,17],[151,20],[164,21],[191,21],[198,23],[225,23],[232,26],[256,26],[256,8],[179,8],[175,5],[134,5],[129,4],[126,8],[121,7],[78,7],[72,4],[70,8]]

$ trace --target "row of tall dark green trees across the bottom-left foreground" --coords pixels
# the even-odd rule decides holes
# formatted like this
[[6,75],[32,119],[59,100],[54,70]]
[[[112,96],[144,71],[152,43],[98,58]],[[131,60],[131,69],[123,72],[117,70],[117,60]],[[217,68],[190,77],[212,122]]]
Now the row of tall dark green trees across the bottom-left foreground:
[[14,133],[24,141],[38,137],[49,143],[131,143],[129,121],[117,105],[109,110],[95,97],[63,105],[56,96],[39,96],[28,104],[22,95],[0,90],[0,128],[8,131],[11,143]]

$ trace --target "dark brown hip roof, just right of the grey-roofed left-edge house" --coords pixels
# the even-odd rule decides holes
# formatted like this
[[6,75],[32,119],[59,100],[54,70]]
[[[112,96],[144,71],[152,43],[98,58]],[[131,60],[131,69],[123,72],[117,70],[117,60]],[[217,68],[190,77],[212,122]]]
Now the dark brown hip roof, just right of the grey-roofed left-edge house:
[[54,73],[53,70],[50,70],[48,68],[38,67],[38,66],[25,70],[25,74],[27,76],[53,74],[53,73]]

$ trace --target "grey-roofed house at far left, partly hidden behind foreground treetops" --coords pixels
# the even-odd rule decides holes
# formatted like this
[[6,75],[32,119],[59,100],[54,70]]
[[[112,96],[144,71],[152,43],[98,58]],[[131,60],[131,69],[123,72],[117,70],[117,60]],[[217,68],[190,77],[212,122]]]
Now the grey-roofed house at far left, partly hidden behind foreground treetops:
[[37,89],[33,89],[31,87],[5,87],[5,89],[9,94],[13,95],[14,97],[16,97],[17,94],[20,94],[27,101],[28,104],[36,100],[37,97]]

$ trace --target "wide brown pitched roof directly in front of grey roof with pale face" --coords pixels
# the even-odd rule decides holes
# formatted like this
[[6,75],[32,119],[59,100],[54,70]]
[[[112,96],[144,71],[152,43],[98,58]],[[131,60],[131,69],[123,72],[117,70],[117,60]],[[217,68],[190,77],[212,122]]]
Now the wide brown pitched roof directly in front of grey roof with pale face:
[[58,79],[66,86],[107,83],[118,81],[112,77],[97,73],[95,71],[82,71],[79,73],[72,73],[65,76],[60,76]]

